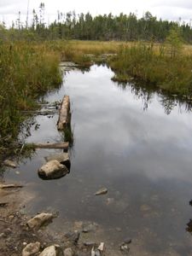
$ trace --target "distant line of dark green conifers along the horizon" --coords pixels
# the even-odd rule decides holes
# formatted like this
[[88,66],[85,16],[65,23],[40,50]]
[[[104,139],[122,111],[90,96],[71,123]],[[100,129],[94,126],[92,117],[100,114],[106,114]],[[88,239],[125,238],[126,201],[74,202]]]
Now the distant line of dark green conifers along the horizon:
[[[80,40],[124,40],[124,41],[151,41],[164,42],[173,28],[179,28],[181,37],[185,43],[192,43],[192,29],[188,23],[179,20],[157,20],[150,12],[146,12],[142,18],[130,13],[125,15],[96,15],[90,13],[76,15],[58,11],[57,19],[45,23],[44,3],[39,6],[38,12],[33,9],[32,22],[22,24],[20,12],[18,19],[9,28],[12,38],[30,39],[80,39]],[[0,33],[5,32],[0,29]],[[19,33],[18,33],[19,32]]]

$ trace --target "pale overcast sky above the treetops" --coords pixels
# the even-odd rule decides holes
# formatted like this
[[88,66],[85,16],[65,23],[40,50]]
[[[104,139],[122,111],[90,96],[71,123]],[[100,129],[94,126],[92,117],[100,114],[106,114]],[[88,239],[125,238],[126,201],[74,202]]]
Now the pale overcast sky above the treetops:
[[39,4],[44,2],[47,22],[55,19],[57,10],[62,13],[75,10],[77,14],[89,11],[92,15],[134,12],[138,17],[150,11],[163,20],[178,20],[179,17],[187,22],[192,20],[192,0],[0,0],[0,21],[15,20],[19,11],[26,20],[28,1],[30,14],[32,9],[38,12]]

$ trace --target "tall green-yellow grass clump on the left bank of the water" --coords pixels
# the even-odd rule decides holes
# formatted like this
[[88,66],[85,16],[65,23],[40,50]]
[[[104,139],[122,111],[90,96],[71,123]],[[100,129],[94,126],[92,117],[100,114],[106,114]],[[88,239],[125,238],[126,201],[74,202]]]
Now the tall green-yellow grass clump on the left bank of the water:
[[43,46],[0,44],[0,135],[15,137],[22,110],[37,107],[38,96],[61,84],[60,57]]

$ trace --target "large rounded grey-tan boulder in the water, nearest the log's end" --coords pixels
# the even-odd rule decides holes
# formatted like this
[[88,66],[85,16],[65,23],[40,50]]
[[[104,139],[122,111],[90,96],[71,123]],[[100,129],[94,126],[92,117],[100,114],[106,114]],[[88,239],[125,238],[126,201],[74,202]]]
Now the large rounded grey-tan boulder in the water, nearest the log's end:
[[58,160],[50,160],[38,170],[38,175],[44,179],[55,179],[65,176],[68,172],[67,167],[61,165]]

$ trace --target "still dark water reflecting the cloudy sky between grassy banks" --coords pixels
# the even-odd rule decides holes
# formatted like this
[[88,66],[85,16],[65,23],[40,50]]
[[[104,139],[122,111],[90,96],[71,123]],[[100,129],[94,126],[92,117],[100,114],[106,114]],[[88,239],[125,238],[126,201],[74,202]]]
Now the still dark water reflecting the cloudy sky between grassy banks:
[[[174,98],[114,83],[112,77],[106,66],[73,70],[64,75],[60,90],[45,97],[55,102],[70,96],[74,143],[66,177],[38,177],[44,156],[56,151],[46,149],[24,160],[20,175],[11,170],[4,177],[36,193],[31,214],[58,211],[58,231],[77,221],[98,224],[87,236],[113,248],[107,255],[119,255],[126,237],[132,240],[131,255],[191,255],[186,228],[192,218],[192,113]],[[33,126],[27,141],[60,142],[57,119],[36,117],[39,129]],[[102,187],[108,194],[96,197]]]

